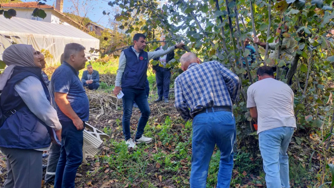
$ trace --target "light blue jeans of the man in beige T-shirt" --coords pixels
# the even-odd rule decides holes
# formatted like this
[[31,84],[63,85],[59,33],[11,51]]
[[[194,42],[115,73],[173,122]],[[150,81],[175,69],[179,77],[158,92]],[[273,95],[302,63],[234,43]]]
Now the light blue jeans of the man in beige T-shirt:
[[279,127],[259,134],[259,146],[268,188],[289,188],[288,146],[295,129]]

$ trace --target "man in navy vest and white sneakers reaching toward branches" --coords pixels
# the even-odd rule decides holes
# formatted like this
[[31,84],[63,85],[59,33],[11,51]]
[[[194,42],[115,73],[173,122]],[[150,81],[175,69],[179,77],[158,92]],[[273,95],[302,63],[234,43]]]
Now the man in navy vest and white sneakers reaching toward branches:
[[[181,42],[169,47],[167,50],[160,49],[146,52],[144,51],[146,46],[145,38],[144,34],[135,34],[133,36],[134,45],[122,51],[115,81],[114,94],[118,95],[121,90],[124,93],[122,124],[125,141],[129,148],[136,148],[136,144],[138,143],[152,142],[152,138],[143,136],[144,128],[151,113],[145,92],[145,80],[149,60],[168,54],[176,48],[182,49],[184,46]],[[135,142],[131,139],[130,131],[133,102],[136,102],[142,114],[138,122]]]

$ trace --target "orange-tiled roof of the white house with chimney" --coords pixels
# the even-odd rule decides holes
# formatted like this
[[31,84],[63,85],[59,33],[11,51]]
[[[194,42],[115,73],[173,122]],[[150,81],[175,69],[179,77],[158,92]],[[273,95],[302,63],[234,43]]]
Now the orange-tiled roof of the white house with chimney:
[[3,3],[1,4],[1,7],[17,7],[17,8],[40,8],[40,9],[53,9],[57,13],[61,14],[63,17],[68,19],[69,21],[75,23],[78,26],[81,26],[78,22],[74,21],[70,17],[66,16],[64,13],[60,12],[59,10],[55,9],[51,5],[38,5],[38,2],[32,1],[32,2],[19,2],[19,3]]

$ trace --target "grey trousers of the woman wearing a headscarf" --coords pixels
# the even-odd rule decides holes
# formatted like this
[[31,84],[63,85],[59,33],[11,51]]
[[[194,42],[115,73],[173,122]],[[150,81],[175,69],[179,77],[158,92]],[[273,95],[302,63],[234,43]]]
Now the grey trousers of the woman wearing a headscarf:
[[6,155],[7,179],[4,188],[40,188],[42,186],[42,151],[0,148]]

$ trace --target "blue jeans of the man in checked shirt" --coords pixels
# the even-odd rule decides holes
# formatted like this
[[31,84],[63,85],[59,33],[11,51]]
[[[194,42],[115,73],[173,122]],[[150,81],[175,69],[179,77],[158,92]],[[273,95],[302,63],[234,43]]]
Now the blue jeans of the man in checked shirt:
[[229,188],[233,169],[235,119],[231,112],[202,113],[194,117],[190,188],[205,188],[214,146],[220,150],[216,188]]

